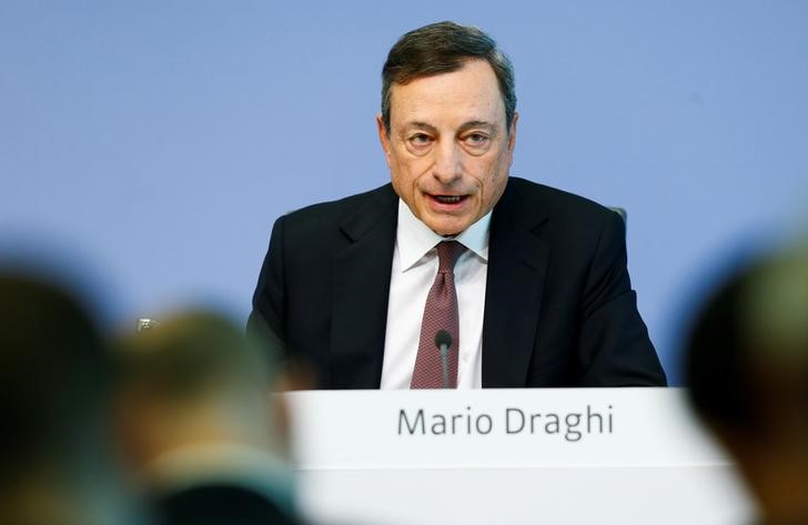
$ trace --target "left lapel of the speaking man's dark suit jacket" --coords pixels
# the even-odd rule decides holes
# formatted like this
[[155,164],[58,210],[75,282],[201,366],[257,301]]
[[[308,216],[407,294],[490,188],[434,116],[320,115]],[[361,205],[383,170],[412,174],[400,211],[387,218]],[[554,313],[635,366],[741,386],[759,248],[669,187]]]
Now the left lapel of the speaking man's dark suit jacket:
[[347,245],[333,261],[331,384],[377,388],[387,325],[397,198],[390,184],[340,224]]

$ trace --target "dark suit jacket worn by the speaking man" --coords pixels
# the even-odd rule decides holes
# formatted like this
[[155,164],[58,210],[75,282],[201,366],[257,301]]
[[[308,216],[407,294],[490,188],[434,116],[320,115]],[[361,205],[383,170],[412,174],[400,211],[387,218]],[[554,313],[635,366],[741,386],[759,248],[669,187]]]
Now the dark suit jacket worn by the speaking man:
[[[390,184],[275,222],[249,330],[322,388],[377,388],[398,198]],[[625,225],[580,196],[509,178],[491,220],[483,386],[665,385],[626,269]]]

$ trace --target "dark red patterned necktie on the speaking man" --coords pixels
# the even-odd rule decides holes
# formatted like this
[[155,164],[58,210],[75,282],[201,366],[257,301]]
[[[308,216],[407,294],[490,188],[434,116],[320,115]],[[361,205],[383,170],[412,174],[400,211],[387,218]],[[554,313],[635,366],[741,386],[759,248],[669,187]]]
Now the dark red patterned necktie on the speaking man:
[[424,320],[421,323],[418,354],[411,388],[442,388],[444,386],[444,359],[435,343],[435,335],[446,331],[452,336],[448,347],[448,387],[457,387],[457,349],[459,347],[459,315],[457,313],[457,292],[454,286],[454,265],[463,252],[457,241],[443,241],[437,244],[437,275],[426,296]]

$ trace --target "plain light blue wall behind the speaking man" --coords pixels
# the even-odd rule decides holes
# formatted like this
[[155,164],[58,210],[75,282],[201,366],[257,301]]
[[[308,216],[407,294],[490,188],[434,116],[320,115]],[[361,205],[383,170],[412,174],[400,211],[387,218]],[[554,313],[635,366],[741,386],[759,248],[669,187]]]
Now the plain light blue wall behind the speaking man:
[[83,269],[113,322],[200,300],[244,320],[280,214],[388,180],[381,67],[444,19],[515,63],[512,173],[628,210],[678,382],[727,253],[801,220],[808,2],[1,0],[6,255]]

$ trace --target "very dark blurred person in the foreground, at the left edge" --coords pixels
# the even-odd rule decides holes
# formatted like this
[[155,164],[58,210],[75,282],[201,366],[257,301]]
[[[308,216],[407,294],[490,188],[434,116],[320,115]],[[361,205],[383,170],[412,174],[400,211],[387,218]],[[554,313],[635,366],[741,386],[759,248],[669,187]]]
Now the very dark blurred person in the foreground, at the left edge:
[[78,296],[0,270],[1,523],[142,523],[113,447],[113,370]]

